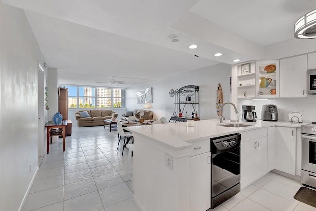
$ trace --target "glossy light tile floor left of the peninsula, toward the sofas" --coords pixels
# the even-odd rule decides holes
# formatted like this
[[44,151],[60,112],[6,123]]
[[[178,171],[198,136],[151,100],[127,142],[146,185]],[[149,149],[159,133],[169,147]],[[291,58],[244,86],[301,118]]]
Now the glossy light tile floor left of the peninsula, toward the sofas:
[[140,211],[116,129],[72,127],[65,152],[62,138],[50,144],[23,211]]

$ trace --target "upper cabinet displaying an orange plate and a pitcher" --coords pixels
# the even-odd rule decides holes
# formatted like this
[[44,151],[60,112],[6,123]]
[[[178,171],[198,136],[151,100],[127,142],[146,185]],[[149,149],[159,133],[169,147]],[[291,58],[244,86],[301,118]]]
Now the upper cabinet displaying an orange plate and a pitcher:
[[256,63],[256,97],[275,98],[279,92],[279,61],[258,61]]

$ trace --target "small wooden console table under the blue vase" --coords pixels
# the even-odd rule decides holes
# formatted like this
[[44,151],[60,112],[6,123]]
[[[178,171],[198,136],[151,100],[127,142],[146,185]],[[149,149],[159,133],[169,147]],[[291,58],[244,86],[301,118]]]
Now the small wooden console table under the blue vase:
[[45,124],[45,127],[47,127],[47,154],[49,154],[49,138],[50,143],[52,143],[53,136],[63,136],[63,150],[65,151],[67,120],[63,120],[61,125],[56,125],[53,121],[49,121]]

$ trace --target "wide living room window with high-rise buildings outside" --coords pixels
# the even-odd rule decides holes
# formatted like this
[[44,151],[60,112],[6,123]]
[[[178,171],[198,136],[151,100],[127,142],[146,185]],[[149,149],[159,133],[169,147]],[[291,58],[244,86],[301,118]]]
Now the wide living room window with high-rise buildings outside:
[[[118,88],[76,87],[68,88],[68,108],[121,108],[125,90]],[[79,105],[79,106],[78,106]]]

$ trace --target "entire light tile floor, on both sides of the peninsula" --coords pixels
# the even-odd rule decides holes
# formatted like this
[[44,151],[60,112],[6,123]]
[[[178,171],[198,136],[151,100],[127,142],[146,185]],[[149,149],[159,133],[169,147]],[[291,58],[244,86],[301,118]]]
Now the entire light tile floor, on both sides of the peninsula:
[[[126,173],[128,149],[121,156],[115,129],[77,127],[50,145],[23,211],[140,211]],[[121,145],[121,144],[120,144]],[[214,211],[316,211],[293,198],[301,183],[268,173]]]

